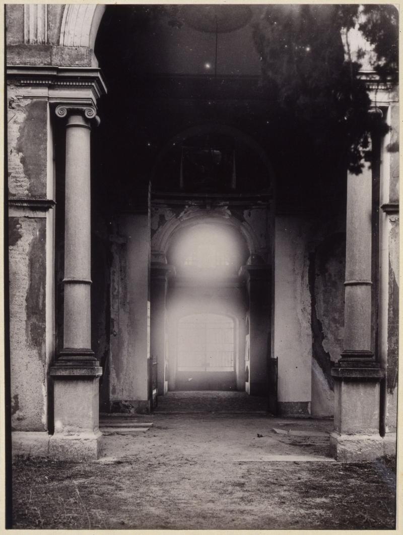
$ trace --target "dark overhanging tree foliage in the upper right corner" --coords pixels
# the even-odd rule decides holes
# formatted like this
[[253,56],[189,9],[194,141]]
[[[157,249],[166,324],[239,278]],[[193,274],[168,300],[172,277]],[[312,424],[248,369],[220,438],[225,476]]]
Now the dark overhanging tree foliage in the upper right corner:
[[370,136],[386,127],[370,111],[360,77],[368,54],[359,48],[352,53],[351,29],[369,43],[379,82],[396,83],[398,12],[391,5],[268,5],[253,35],[263,86],[289,128],[309,140],[314,155],[336,152],[359,174]]

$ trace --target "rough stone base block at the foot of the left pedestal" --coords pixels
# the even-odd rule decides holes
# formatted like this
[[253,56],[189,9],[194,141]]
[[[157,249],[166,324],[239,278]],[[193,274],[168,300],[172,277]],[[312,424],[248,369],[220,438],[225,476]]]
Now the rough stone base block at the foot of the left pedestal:
[[102,433],[56,433],[49,440],[49,456],[58,461],[92,461],[101,453]]

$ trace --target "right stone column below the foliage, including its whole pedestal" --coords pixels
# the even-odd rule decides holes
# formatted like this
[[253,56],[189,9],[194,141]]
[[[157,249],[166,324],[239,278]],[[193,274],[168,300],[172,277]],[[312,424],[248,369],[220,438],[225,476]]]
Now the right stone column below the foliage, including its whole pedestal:
[[330,449],[339,461],[383,455],[379,435],[381,366],[371,350],[372,172],[347,176],[344,350],[332,369],[335,378],[335,431]]

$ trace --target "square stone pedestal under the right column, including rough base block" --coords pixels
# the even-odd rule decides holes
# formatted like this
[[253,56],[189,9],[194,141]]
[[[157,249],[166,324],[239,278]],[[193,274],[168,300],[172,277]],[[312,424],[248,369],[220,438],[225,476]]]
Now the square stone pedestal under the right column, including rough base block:
[[335,431],[330,435],[330,454],[340,462],[373,461],[384,455],[379,435],[378,367],[340,366],[335,378]]

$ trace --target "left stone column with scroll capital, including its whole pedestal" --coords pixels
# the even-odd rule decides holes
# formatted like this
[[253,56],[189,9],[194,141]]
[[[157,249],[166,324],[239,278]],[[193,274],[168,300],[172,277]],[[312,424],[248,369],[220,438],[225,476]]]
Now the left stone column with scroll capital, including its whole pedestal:
[[64,344],[51,368],[55,434],[50,453],[63,459],[99,454],[98,381],[91,350],[90,131],[95,108],[58,106],[66,118]]

